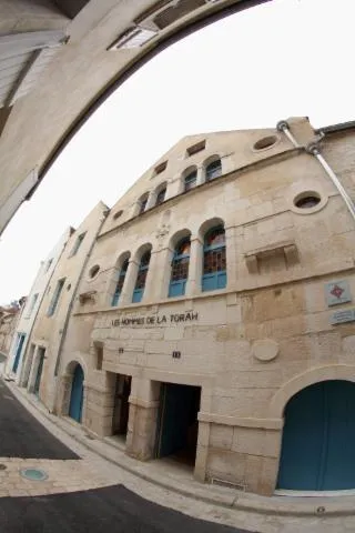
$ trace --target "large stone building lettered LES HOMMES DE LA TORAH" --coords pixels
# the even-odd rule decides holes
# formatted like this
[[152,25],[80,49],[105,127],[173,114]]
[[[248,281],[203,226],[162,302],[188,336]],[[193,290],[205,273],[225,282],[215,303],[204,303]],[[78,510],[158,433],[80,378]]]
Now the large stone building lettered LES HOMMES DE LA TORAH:
[[[65,290],[45,316],[51,292],[31,339],[49,409],[201,481],[355,489],[355,221],[305,150],[318,132],[288,125],[298,147],[275,129],[187,137],[85,222],[89,260],[52,282],[80,280],[73,306]],[[355,198],[355,127],[324,132]]]

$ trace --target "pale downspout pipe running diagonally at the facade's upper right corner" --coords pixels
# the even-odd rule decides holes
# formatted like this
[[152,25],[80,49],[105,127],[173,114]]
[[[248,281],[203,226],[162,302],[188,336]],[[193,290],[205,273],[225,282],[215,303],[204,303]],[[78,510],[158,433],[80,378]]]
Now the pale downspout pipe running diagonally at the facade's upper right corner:
[[277,125],[276,125],[276,129],[281,132],[283,132],[287,139],[292,142],[292,144],[295,147],[295,148],[304,148],[305,151],[307,153],[310,153],[311,155],[314,155],[317,161],[320,162],[320,164],[322,165],[322,168],[325,170],[326,174],[328,175],[328,178],[331,178],[334,187],[337,189],[338,193],[341,194],[341,197],[343,198],[345,204],[346,204],[346,208],[347,210],[349,211],[351,215],[353,217],[353,219],[355,220],[355,204],[353,202],[353,200],[351,199],[351,197],[347,194],[346,190],[344,189],[344,187],[342,185],[339,179],[337,178],[337,175],[335,174],[335,172],[333,171],[333,169],[329,167],[329,164],[325,161],[324,157],[322,155],[321,153],[321,150],[320,150],[320,141],[322,141],[322,139],[325,137],[324,133],[321,131],[321,137],[318,139],[316,139],[315,141],[311,142],[310,144],[307,145],[304,145],[304,147],[301,147],[298,144],[298,142],[296,141],[296,139],[294,138],[294,135],[291,133],[290,131],[290,125],[287,123],[286,120],[281,120]]

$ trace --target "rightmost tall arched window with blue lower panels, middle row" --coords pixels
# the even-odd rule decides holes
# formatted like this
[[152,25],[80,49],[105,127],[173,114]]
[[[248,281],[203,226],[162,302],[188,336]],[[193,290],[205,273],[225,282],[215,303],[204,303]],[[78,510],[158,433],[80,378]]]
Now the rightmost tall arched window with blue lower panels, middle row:
[[204,237],[202,290],[214,291],[226,285],[225,231],[212,228]]

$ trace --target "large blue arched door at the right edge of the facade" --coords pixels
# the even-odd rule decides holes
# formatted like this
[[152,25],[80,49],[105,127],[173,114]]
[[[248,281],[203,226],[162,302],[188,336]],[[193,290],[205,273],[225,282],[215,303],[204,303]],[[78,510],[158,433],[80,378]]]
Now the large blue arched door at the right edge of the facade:
[[355,489],[355,384],[323,381],[288,401],[278,489]]

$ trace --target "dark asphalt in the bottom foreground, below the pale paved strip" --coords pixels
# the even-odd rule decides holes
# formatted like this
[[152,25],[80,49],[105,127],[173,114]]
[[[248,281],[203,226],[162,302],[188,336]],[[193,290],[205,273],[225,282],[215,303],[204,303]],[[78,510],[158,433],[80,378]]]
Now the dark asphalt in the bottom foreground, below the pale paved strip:
[[1,533],[246,533],[151,503],[122,485],[0,499]]

